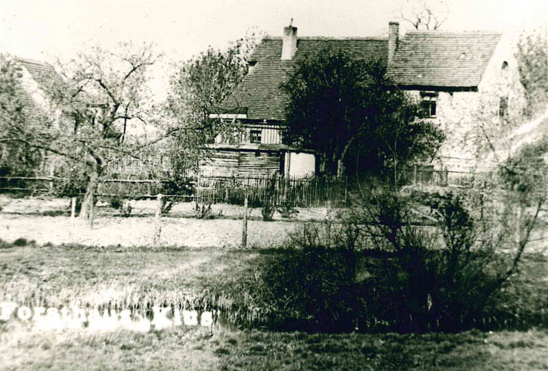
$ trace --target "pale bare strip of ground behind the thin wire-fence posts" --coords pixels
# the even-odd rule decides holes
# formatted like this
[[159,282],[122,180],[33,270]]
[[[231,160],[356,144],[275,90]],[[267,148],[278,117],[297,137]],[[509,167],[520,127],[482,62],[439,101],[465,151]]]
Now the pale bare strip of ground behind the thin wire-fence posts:
[[[86,246],[147,246],[155,233],[154,201],[132,201],[129,218],[119,210],[101,203],[96,209],[92,230],[78,218],[71,240],[69,201],[66,199],[10,199],[0,196],[0,238],[13,242],[17,238],[35,240],[38,244],[82,244]],[[175,205],[162,217],[159,246],[235,248],[242,242],[242,207],[212,205],[206,218],[195,218],[192,203]],[[249,209],[247,246],[279,248],[286,245],[288,233],[300,222],[323,218],[325,209],[301,209],[296,218],[275,214],[273,222],[262,221],[260,209]]]

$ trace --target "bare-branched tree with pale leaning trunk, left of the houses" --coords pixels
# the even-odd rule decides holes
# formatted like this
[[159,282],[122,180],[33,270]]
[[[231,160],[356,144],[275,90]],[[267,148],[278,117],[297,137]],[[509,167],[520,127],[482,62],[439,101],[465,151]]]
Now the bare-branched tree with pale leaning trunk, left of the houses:
[[90,225],[105,168],[121,157],[137,157],[157,141],[143,134],[158,121],[147,70],[159,57],[151,44],[122,43],[116,51],[90,47],[69,62],[58,61],[58,71],[50,68],[38,77],[48,99],[40,118],[0,138],[60,155],[82,171],[86,191],[80,217]]

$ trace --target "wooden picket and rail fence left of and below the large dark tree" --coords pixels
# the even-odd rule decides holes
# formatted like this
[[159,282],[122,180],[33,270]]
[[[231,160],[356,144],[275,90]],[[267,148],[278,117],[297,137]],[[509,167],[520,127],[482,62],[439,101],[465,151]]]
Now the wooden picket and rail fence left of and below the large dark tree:
[[[328,175],[298,178],[279,175],[241,174],[214,175],[188,172],[178,183],[160,179],[104,179],[99,184],[99,196],[119,196],[126,199],[151,198],[156,194],[193,200],[199,203],[243,204],[271,203],[302,207],[343,207],[347,197],[347,181]],[[0,191],[51,192],[62,178],[0,177]]]

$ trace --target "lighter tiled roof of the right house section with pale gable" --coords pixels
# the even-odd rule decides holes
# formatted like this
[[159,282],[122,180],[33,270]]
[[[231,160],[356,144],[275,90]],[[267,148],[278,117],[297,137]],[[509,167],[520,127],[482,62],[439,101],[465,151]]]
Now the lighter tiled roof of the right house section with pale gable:
[[388,75],[401,86],[474,88],[500,38],[495,31],[408,32]]

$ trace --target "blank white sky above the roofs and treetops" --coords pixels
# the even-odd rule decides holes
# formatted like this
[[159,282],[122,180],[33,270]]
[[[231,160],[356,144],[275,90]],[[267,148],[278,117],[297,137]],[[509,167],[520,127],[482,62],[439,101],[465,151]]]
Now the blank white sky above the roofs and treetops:
[[[449,6],[442,29],[519,32],[547,23],[547,0],[427,0]],[[0,0],[3,51],[36,60],[68,57],[84,42],[155,42],[167,60],[209,45],[224,49],[250,27],[282,36],[293,18],[300,36],[386,36],[407,0]],[[403,34],[409,25],[400,22]]]

